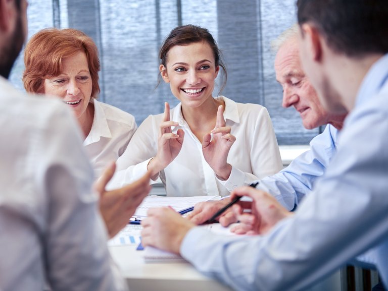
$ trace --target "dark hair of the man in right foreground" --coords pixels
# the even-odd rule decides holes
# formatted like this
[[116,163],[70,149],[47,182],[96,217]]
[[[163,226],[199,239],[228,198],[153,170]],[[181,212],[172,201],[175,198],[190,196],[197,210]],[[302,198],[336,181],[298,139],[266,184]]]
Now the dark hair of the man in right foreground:
[[386,0],[298,0],[298,22],[311,22],[348,56],[388,52]]

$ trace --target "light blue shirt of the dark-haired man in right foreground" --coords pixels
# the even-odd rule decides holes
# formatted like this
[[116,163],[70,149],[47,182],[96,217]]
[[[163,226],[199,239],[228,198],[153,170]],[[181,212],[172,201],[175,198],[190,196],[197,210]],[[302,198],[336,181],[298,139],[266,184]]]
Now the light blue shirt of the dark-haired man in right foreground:
[[237,290],[298,290],[369,250],[388,286],[388,54],[369,70],[337,154],[293,217],[269,234],[222,237],[199,227],[181,254]]

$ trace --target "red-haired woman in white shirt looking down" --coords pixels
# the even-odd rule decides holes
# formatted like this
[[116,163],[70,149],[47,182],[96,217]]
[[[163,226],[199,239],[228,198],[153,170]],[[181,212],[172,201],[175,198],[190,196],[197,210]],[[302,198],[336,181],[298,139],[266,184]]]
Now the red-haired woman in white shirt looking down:
[[137,126],[134,117],[96,99],[100,61],[93,40],[76,29],[43,29],[24,52],[27,92],[59,97],[74,112],[96,177],[126,149]]

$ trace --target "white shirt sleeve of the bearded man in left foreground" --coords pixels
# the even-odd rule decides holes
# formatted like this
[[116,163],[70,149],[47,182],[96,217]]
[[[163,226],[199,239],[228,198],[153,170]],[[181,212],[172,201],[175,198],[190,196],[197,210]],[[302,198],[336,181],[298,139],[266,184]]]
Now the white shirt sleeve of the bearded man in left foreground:
[[47,280],[56,291],[126,290],[107,247],[107,231],[91,191],[93,171],[71,112],[54,111],[38,141],[37,185],[47,196],[43,234]]

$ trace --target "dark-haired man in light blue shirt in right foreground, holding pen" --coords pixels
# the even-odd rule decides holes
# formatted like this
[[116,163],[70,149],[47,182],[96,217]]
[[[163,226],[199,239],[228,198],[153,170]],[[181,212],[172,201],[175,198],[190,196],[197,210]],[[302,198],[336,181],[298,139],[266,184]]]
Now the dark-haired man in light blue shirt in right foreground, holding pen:
[[298,0],[301,60],[325,108],[350,112],[337,154],[292,213],[241,187],[257,234],[222,237],[171,209],[149,211],[142,242],[180,253],[237,290],[299,290],[369,250],[388,283],[388,5]]

